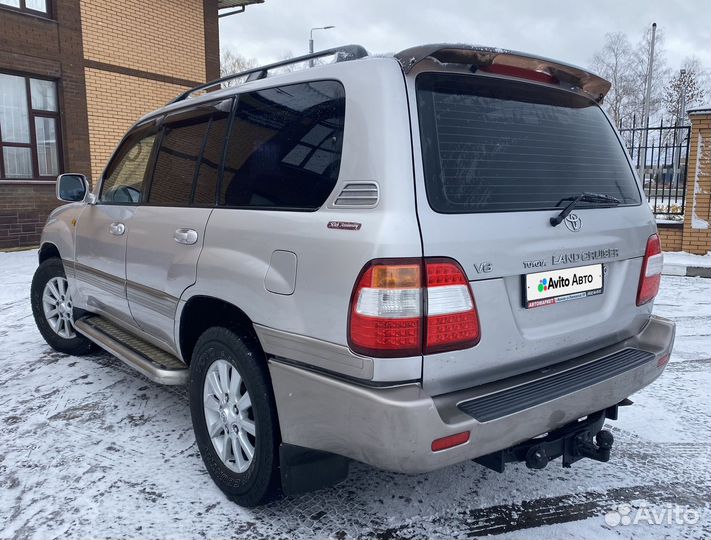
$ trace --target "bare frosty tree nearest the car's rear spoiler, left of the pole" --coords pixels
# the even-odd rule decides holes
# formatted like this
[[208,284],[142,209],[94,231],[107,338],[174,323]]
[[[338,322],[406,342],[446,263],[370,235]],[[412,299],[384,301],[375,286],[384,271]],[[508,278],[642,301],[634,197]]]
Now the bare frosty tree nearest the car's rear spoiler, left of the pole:
[[603,107],[616,126],[628,124],[634,109],[634,77],[630,70],[633,62],[632,45],[622,32],[605,34],[605,43],[593,56],[593,70],[612,83]]

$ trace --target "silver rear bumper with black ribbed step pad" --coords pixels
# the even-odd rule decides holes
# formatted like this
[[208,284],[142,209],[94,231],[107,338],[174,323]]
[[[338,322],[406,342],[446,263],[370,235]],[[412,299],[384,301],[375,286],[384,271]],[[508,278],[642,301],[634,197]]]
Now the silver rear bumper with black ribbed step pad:
[[[418,385],[366,387],[273,360],[269,370],[285,443],[421,473],[508,448],[619,403],[662,373],[666,364],[659,361],[671,353],[674,331],[673,322],[653,316],[639,334],[610,347],[436,397]],[[610,362],[612,355],[628,362],[624,369]],[[605,366],[612,367],[605,372]],[[592,384],[580,384],[580,376],[592,372]],[[431,450],[433,440],[462,431],[471,433],[467,443]]]

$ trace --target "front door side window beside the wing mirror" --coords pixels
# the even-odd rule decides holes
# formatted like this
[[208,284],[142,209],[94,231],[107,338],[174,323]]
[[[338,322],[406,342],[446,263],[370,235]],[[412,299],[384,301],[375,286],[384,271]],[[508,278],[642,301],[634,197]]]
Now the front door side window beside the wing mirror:
[[109,163],[99,200],[107,204],[138,204],[155,143],[155,132],[127,138]]

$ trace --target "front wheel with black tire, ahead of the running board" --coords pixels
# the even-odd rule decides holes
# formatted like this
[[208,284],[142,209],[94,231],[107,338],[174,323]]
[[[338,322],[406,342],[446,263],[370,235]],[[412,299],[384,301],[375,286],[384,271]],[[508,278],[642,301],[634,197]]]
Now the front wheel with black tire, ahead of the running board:
[[[91,341],[74,330],[75,310],[60,259],[47,259],[39,265],[32,278],[30,301],[35,324],[50,347],[74,356],[91,352]],[[53,305],[57,314],[49,317]]]

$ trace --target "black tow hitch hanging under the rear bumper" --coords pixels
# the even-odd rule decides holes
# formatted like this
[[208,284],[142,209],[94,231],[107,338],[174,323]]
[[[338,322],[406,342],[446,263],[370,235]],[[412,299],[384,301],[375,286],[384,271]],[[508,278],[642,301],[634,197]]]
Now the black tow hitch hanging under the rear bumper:
[[524,462],[529,469],[543,469],[548,463],[563,456],[563,467],[570,467],[576,461],[590,458],[596,461],[610,460],[610,449],[614,443],[612,433],[602,429],[606,419],[617,420],[617,409],[631,405],[625,399],[617,405],[588,415],[551,431],[545,437],[531,439],[511,448],[500,450],[474,461],[496,472],[504,472],[506,463]]

